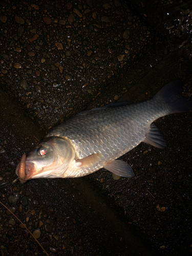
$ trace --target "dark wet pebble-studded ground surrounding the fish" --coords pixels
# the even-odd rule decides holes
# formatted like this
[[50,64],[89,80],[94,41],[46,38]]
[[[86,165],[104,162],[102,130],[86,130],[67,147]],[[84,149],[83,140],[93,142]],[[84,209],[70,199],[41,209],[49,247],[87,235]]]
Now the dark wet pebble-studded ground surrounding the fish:
[[[1,202],[49,255],[190,255],[191,112],[156,121],[168,141],[124,156],[135,177],[15,183],[23,153],[74,114],[139,102],[184,81],[191,98],[190,1],[0,1]],[[44,255],[0,205],[1,255]]]

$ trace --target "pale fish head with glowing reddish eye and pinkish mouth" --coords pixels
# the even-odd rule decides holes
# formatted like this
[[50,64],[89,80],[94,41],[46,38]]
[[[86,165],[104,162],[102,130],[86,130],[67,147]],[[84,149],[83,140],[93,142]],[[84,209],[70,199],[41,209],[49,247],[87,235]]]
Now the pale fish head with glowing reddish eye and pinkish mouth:
[[75,159],[75,150],[67,138],[52,136],[39,142],[20,161],[15,173],[20,182],[36,178],[60,178]]

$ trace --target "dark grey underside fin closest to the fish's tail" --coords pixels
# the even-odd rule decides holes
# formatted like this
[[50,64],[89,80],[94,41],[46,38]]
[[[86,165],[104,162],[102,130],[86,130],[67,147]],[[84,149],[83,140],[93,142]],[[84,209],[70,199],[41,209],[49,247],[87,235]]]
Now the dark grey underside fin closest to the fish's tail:
[[155,123],[151,124],[143,142],[159,148],[163,148],[168,145],[163,133],[159,130]]

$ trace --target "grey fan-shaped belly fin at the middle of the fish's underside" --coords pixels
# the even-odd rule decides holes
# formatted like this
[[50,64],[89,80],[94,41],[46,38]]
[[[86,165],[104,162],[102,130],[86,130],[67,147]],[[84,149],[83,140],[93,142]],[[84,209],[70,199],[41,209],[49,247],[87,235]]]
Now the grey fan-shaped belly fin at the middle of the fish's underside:
[[122,160],[108,161],[103,167],[118,176],[129,178],[135,176],[132,167]]

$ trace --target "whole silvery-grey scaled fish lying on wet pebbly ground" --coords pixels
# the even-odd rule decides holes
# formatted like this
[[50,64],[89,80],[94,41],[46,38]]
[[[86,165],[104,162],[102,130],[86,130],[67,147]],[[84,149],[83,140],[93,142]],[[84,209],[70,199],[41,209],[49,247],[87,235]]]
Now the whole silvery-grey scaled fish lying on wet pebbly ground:
[[86,110],[56,126],[24,154],[15,173],[21,183],[36,178],[78,178],[105,168],[114,175],[134,177],[120,157],[141,142],[158,148],[167,141],[154,123],[158,118],[192,109],[181,95],[183,82],[169,82],[153,98],[115,102]]

